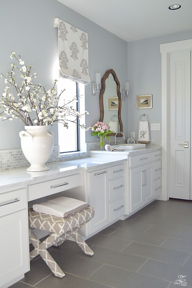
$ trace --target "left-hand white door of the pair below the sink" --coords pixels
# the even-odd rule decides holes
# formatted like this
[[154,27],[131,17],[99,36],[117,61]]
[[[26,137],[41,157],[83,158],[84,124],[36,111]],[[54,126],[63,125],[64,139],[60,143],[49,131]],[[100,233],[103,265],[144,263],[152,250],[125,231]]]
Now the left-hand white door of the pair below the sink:
[[144,171],[142,166],[130,169],[130,212],[144,204],[143,199]]

